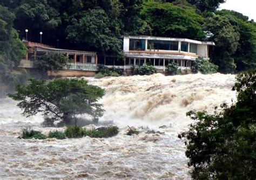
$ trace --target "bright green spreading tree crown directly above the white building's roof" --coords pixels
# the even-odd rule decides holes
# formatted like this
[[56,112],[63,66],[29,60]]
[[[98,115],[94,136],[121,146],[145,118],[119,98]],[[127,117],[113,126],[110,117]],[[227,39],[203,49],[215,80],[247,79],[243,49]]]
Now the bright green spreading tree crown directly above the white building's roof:
[[171,3],[144,3],[142,16],[152,28],[152,34],[161,37],[204,38],[203,17],[188,6]]

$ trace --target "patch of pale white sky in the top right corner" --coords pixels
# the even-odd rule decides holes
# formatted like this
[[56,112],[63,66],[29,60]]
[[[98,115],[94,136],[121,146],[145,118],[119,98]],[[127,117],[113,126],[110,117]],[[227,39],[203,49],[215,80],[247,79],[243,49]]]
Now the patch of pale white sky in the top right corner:
[[220,9],[234,10],[256,21],[256,0],[226,0]]

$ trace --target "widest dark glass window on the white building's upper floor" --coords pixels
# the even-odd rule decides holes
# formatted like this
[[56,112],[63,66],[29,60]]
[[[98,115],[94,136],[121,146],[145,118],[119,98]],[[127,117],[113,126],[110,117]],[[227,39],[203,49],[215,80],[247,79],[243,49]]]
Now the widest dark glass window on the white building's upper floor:
[[147,49],[178,51],[178,46],[179,46],[178,41],[160,41],[160,40],[147,41]]

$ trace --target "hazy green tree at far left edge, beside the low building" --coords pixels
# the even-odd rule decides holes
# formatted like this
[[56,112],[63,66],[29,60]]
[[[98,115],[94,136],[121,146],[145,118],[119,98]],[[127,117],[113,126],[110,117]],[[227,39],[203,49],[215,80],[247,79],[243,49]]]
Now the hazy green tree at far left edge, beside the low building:
[[21,72],[15,70],[25,56],[26,48],[12,27],[15,15],[0,5],[0,83],[14,85],[21,83]]

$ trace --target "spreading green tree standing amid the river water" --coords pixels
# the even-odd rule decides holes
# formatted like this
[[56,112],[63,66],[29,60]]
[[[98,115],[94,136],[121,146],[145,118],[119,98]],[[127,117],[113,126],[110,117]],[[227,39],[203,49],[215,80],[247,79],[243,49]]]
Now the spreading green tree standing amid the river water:
[[43,113],[45,118],[71,124],[77,115],[83,114],[94,120],[103,116],[102,105],[97,103],[104,90],[76,78],[56,79],[50,82],[30,80],[26,86],[17,85],[17,93],[9,94],[19,100],[18,106],[27,117]]

